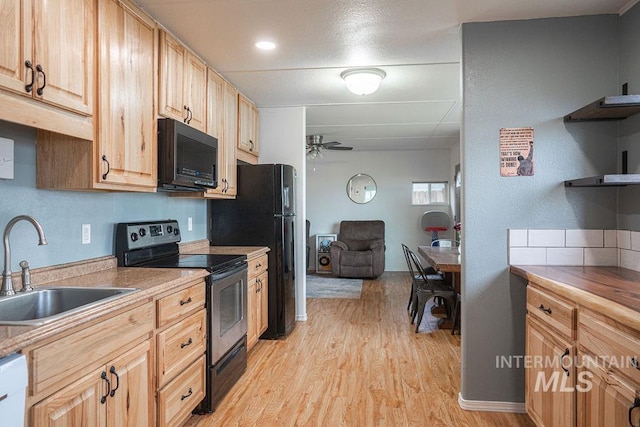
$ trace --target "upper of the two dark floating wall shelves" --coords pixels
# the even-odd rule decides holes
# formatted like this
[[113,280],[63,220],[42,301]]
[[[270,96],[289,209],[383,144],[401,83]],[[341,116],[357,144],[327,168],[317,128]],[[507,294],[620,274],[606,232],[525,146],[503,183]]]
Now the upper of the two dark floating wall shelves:
[[636,113],[640,113],[640,95],[605,96],[567,114],[564,121],[623,120]]

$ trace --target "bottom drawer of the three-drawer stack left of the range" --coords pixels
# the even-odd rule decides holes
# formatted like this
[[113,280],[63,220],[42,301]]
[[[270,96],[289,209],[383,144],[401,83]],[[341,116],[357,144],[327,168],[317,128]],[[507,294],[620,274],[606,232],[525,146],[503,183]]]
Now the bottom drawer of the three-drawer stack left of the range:
[[204,399],[205,359],[202,355],[158,392],[158,425],[182,425]]

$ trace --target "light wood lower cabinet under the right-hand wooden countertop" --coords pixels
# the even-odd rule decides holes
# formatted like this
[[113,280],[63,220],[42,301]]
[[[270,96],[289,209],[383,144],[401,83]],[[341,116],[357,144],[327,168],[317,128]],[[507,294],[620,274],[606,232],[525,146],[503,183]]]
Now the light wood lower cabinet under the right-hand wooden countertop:
[[527,311],[526,407],[533,421],[640,426],[640,331],[539,284],[529,284]]

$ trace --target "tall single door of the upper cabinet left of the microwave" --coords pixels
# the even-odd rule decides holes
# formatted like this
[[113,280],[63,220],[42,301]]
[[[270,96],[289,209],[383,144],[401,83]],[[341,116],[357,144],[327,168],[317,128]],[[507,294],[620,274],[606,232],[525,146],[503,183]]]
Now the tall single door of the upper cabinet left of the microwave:
[[96,178],[100,183],[153,191],[158,169],[155,23],[116,0],[98,3],[100,121],[96,160],[100,165]]

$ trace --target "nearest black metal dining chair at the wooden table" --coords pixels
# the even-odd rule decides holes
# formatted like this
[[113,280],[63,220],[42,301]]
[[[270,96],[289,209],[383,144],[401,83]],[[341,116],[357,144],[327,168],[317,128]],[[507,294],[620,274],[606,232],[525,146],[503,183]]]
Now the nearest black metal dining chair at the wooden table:
[[[411,317],[411,323],[416,322],[416,332],[418,332],[427,302],[432,298],[441,298],[444,301],[447,317],[451,317],[451,308],[454,306],[456,293],[445,281],[429,278],[418,256],[411,250],[407,251],[407,253],[415,267],[415,271],[417,271],[419,275],[419,279],[414,281],[414,310]],[[417,320],[416,315],[418,317]]]

